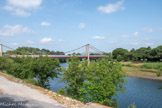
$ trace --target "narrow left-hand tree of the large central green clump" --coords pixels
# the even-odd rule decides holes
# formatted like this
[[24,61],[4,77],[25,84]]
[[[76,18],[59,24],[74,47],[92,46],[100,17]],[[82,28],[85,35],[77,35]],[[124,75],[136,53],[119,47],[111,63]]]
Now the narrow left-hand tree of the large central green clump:
[[68,63],[68,69],[64,69],[64,74],[62,81],[64,81],[68,86],[66,87],[68,95],[73,98],[79,98],[79,89],[83,86],[85,80],[86,65],[88,63],[85,61],[83,63],[77,57],[70,59]]

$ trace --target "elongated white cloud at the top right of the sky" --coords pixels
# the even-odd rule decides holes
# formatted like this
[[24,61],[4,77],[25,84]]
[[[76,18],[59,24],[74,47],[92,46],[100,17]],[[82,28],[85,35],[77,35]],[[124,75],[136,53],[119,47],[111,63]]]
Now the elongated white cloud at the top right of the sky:
[[106,14],[110,14],[110,13],[116,12],[118,10],[125,9],[125,7],[123,7],[123,3],[124,3],[124,1],[121,0],[121,1],[118,1],[118,2],[116,2],[114,4],[110,3],[110,4],[106,5],[106,6],[99,6],[98,10],[100,12],[103,12],[103,13],[106,13]]

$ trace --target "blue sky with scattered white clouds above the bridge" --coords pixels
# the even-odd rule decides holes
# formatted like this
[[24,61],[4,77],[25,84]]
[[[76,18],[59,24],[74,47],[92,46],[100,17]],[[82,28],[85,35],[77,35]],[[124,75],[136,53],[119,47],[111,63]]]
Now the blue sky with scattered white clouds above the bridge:
[[0,44],[155,48],[162,45],[162,0],[0,0]]

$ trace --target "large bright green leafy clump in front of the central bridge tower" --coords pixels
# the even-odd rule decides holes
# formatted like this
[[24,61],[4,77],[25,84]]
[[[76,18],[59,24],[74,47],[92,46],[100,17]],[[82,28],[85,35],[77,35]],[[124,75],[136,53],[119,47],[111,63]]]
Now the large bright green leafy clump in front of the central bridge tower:
[[[124,92],[125,72],[120,63],[103,58],[97,62],[82,61],[73,57],[68,68],[63,69],[63,79],[68,86],[67,95],[82,102],[96,102],[112,106],[117,91]],[[61,90],[61,93],[64,93]]]

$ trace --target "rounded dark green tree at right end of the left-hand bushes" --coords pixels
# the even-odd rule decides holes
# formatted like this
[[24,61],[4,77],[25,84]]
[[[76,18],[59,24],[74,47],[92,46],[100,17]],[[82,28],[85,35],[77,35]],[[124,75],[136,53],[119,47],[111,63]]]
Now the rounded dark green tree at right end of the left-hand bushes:
[[41,87],[49,88],[49,78],[55,78],[60,72],[60,63],[58,60],[52,60],[49,57],[40,56],[36,60],[36,78]]

